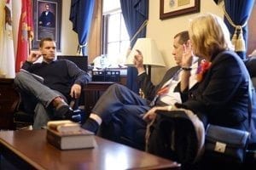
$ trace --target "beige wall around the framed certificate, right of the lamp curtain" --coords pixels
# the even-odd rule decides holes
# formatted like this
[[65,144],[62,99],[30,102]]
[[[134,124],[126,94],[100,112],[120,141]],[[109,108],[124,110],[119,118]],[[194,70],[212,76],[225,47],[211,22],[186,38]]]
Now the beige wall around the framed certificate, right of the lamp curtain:
[[[223,17],[221,8],[218,7],[212,0],[201,1],[201,13],[213,13]],[[175,65],[172,58],[172,39],[179,31],[184,31],[189,25],[189,19],[197,14],[186,14],[167,20],[160,20],[160,1],[149,0],[149,18],[147,27],[147,37],[152,37],[157,43],[160,52],[166,62],[166,68],[157,68],[152,71],[153,82],[159,82],[163,77],[159,72]]]

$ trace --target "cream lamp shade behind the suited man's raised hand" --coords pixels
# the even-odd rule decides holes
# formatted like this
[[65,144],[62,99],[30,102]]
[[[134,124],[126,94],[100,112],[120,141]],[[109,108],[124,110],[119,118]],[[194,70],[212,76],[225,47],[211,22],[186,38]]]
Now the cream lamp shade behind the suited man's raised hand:
[[137,49],[140,50],[143,54],[143,65],[166,66],[154,40],[148,37],[137,39],[137,42],[131,49],[131,53],[126,59],[125,65],[134,66],[133,59],[137,54]]

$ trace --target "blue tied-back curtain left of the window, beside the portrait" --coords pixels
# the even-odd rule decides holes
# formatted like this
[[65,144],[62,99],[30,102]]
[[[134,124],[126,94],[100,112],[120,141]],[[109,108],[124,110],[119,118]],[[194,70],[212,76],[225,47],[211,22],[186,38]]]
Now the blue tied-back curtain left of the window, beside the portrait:
[[85,47],[90,31],[95,0],[72,0],[69,20],[73,22],[73,31],[78,33],[78,54],[85,55]]

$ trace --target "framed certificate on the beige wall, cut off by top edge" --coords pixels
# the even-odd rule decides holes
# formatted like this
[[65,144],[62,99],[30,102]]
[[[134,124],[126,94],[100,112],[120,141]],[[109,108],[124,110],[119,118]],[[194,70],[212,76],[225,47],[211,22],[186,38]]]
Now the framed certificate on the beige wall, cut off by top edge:
[[200,12],[200,0],[160,0],[160,20]]

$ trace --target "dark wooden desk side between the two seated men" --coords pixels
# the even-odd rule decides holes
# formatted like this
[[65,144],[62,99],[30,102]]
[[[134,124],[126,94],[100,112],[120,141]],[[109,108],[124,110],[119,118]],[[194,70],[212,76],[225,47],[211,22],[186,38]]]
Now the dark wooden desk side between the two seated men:
[[89,82],[84,85],[84,110],[86,113],[90,114],[91,109],[94,107],[101,94],[113,83],[114,82]]

